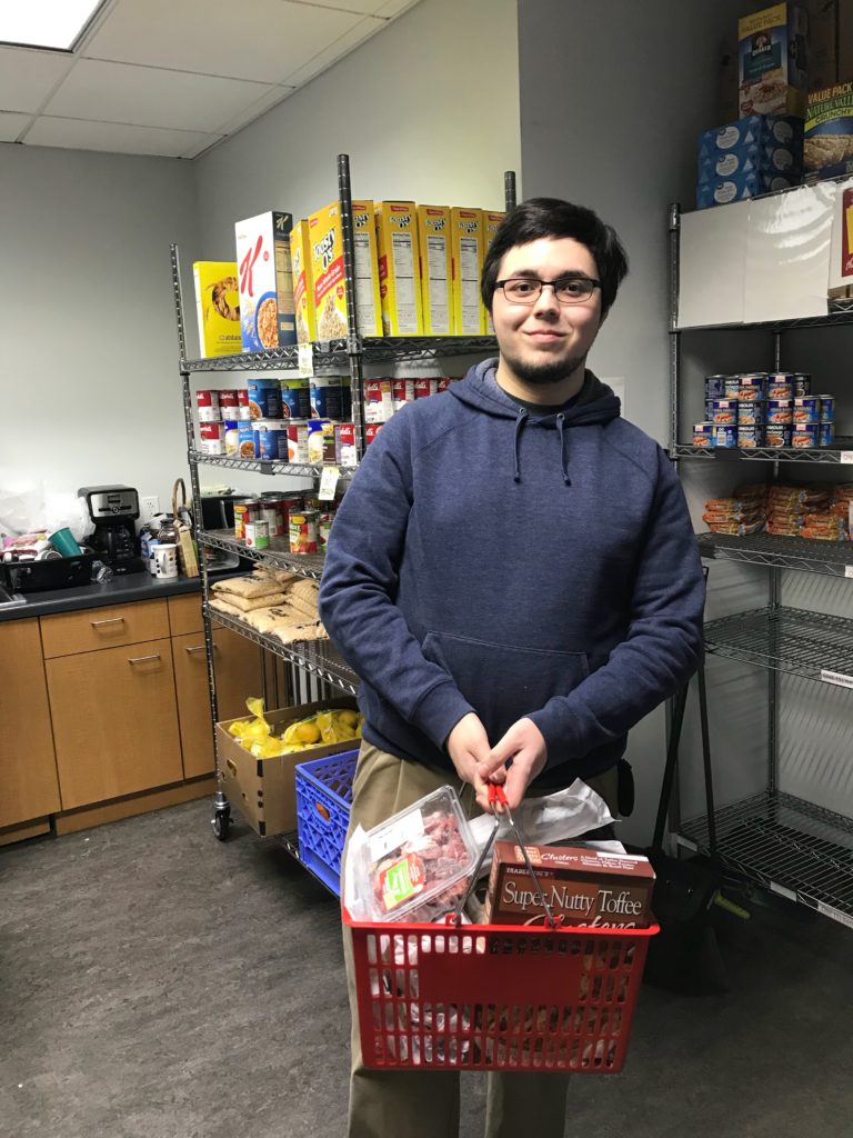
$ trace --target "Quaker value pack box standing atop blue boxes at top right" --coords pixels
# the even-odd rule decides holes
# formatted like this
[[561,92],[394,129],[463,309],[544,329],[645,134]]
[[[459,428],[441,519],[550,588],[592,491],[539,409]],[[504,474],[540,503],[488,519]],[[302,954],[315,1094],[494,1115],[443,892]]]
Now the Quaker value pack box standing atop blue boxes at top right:
[[805,113],[808,16],[797,3],[777,3],[738,20],[742,115]]

